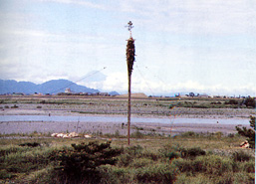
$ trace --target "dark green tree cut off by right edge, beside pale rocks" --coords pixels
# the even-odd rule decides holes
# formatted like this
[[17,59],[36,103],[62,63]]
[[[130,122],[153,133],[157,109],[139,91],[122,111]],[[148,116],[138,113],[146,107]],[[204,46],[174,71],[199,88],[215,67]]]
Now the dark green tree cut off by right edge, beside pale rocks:
[[248,137],[247,140],[250,144],[250,147],[255,148],[255,116],[250,116],[250,126],[252,128],[249,129],[244,126],[242,128],[236,126],[235,128],[240,135]]

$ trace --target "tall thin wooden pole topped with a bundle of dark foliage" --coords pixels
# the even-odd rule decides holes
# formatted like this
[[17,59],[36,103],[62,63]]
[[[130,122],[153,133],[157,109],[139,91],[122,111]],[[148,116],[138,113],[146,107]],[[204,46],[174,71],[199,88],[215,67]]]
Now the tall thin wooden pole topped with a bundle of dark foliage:
[[133,62],[135,59],[135,46],[134,40],[131,36],[131,29],[133,28],[131,21],[128,22],[129,39],[127,45],[127,64],[128,64],[128,145],[129,145],[129,126],[130,126],[130,85],[131,85],[131,73]]

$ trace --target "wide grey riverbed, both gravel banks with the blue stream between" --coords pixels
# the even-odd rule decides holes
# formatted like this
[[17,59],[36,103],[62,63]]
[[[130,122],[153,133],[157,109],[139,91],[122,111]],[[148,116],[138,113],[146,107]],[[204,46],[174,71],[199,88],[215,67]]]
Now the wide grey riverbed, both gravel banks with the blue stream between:
[[[74,103],[1,103],[0,104],[0,133],[30,133],[37,132],[87,132],[87,133],[119,133],[127,134],[127,101],[110,99],[85,99],[81,103],[76,100]],[[16,120],[6,120],[8,115],[17,116]],[[54,120],[53,119],[25,119],[26,115],[32,116],[74,116],[75,120]],[[169,108],[164,103],[157,103],[154,100],[135,100],[131,105],[131,133],[140,131],[142,133],[164,133],[177,134],[185,131],[194,132],[217,132],[224,134],[235,133],[235,126],[240,124],[238,119],[243,121],[244,126],[249,126],[249,116],[255,115],[252,108],[191,108],[173,107]],[[111,121],[87,121],[80,120],[83,116],[110,117],[116,119],[123,117],[125,120]],[[19,119],[20,117],[20,119]],[[132,118],[149,119],[147,121],[132,122]],[[158,119],[158,121],[151,121]],[[167,123],[161,119],[167,118]],[[188,121],[182,122],[179,119],[185,118]],[[190,121],[189,121],[190,119]],[[197,120],[195,120],[197,119]],[[201,120],[198,120],[201,119]],[[208,122],[207,119],[213,119]],[[220,119],[231,120],[230,123],[222,123]],[[232,122],[232,119],[234,122]],[[217,123],[219,121],[219,123]],[[248,124],[244,123],[247,121]]]

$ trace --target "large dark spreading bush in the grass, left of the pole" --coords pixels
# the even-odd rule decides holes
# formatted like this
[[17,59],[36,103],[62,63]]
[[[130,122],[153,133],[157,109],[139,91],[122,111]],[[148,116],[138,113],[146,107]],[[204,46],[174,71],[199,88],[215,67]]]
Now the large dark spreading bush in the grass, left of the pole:
[[73,149],[63,149],[51,154],[51,159],[58,161],[56,169],[60,180],[73,182],[99,182],[101,176],[97,168],[101,165],[114,165],[114,157],[121,153],[121,149],[111,148],[111,143],[89,142],[88,144],[72,144]]

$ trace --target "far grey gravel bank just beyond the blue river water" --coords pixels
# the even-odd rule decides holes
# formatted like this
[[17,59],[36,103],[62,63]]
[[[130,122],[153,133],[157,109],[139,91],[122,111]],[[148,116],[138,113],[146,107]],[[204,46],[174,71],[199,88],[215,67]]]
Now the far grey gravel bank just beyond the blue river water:
[[[36,104],[17,103],[0,104],[0,115],[126,115],[127,103],[89,103],[89,104]],[[8,107],[7,107],[8,106]],[[133,116],[144,117],[184,117],[184,118],[249,118],[255,115],[252,108],[189,108],[167,106],[143,105],[143,103],[131,106]]]

